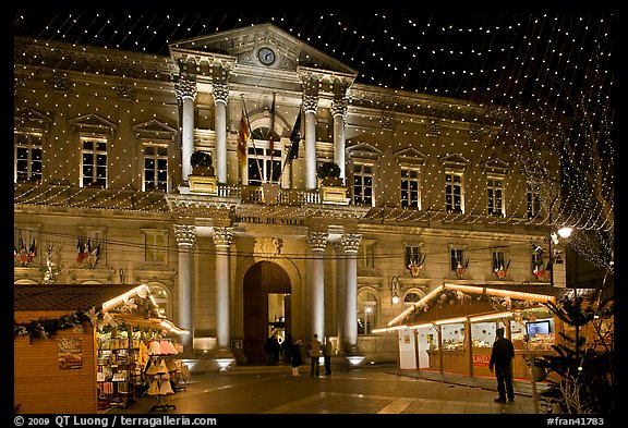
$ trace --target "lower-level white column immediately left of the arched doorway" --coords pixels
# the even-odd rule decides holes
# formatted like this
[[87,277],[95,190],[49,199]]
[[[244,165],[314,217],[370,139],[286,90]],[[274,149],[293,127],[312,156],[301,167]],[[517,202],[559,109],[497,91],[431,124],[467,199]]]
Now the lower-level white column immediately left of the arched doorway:
[[233,228],[215,228],[216,246],[216,345],[218,350],[230,348],[229,304],[229,248],[233,241]]

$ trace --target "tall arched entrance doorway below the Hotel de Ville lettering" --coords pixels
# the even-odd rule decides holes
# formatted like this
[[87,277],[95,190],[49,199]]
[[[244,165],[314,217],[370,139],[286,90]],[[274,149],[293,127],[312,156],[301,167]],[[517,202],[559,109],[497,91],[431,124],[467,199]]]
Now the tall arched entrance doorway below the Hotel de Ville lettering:
[[290,332],[290,278],[278,265],[259,261],[244,274],[244,355],[264,363],[264,343],[273,329]]

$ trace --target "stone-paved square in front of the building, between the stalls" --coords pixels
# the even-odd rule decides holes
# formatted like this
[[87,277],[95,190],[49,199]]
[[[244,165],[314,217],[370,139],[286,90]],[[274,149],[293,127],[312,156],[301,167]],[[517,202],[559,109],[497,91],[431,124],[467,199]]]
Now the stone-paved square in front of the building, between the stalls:
[[[517,381],[514,403],[495,403],[493,378],[365,366],[319,378],[309,366],[292,377],[289,365],[238,366],[228,371],[192,374],[185,390],[167,395],[176,408],[154,408],[143,395],[128,408],[108,414],[534,414],[527,387]],[[542,384],[540,384],[543,388]]]

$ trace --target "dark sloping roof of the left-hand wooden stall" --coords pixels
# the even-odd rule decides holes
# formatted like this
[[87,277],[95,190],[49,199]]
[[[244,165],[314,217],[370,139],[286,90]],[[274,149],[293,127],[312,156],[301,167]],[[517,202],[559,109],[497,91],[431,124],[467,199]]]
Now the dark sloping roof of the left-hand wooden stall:
[[105,302],[136,288],[136,284],[16,284],[13,310],[101,309]]

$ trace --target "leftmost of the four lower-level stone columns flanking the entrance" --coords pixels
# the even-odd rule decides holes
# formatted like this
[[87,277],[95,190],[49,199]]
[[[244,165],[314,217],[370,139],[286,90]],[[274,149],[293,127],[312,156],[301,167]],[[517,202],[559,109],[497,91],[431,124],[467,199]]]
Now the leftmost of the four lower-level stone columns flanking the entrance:
[[190,334],[181,335],[183,353],[192,355],[194,348],[194,244],[196,244],[196,227],[191,224],[174,224],[174,237],[179,247],[179,316],[177,325]]

